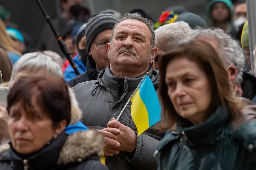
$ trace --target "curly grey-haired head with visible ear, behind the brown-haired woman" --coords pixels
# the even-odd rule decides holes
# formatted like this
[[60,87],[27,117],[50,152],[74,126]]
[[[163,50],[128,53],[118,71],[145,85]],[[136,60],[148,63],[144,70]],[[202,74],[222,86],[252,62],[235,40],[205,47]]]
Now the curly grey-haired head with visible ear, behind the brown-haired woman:
[[210,43],[226,67],[229,82],[233,88],[235,96],[242,96],[240,87],[243,78],[243,68],[245,56],[240,45],[221,29],[198,28],[188,32],[183,42],[204,40]]

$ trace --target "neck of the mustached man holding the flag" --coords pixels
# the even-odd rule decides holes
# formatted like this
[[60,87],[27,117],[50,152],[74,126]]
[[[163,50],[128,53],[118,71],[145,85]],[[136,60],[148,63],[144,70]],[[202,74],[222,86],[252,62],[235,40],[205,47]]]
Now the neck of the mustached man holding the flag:
[[113,69],[113,67],[111,67],[110,65],[110,71],[112,72],[112,74],[121,78],[124,78],[124,77],[136,78],[141,76],[142,74],[145,74],[148,71],[148,69],[149,69],[149,66],[146,69],[143,69],[140,71],[138,69],[133,69],[133,68],[126,69],[126,70],[124,70],[123,68]]

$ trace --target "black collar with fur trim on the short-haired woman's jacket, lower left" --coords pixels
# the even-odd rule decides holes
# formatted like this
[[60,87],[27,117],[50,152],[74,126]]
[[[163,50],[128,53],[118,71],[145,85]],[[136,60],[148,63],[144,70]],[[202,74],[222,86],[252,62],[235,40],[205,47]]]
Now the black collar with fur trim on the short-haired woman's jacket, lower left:
[[22,159],[12,146],[10,156],[17,170],[24,170],[24,160],[27,160],[30,169],[45,170],[81,162],[90,156],[102,157],[103,147],[103,138],[96,130],[76,132],[72,135],[63,131],[49,145],[27,159]]

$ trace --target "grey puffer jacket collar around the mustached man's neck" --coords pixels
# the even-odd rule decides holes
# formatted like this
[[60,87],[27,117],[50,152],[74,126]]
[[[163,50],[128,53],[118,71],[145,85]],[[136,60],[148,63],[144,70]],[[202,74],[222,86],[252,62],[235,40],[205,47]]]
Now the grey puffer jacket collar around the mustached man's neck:
[[[151,67],[149,67],[148,72],[154,87],[157,88],[159,83],[159,72]],[[103,69],[99,73],[97,81],[102,87],[105,87],[105,89],[109,91],[115,97],[115,99],[118,99],[120,98],[118,94],[123,94],[125,92],[132,93],[142,80],[143,76],[144,74],[137,78],[117,77],[112,74],[110,65],[108,65],[107,68]]]

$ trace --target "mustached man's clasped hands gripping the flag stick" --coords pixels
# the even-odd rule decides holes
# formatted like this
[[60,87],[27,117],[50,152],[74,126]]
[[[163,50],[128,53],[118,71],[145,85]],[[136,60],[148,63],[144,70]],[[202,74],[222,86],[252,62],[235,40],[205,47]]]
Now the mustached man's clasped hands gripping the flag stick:
[[[105,155],[119,153],[118,151],[132,152],[137,146],[137,134],[129,127],[112,118],[107,128],[100,131],[104,136],[107,151]],[[112,154],[111,154],[112,153]],[[108,156],[108,155],[107,155]]]

